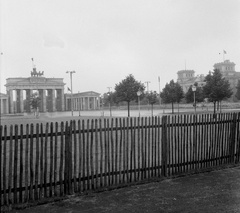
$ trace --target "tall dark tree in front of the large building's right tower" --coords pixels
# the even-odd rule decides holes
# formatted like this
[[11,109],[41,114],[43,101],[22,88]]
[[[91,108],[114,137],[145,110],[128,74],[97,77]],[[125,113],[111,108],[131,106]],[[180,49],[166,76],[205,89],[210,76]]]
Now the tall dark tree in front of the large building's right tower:
[[232,89],[228,80],[222,77],[220,70],[214,69],[213,73],[205,77],[206,85],[203,87],[203,94],[210,102],[214,104],[214,115],[216,112],[216,103],[230,98]]

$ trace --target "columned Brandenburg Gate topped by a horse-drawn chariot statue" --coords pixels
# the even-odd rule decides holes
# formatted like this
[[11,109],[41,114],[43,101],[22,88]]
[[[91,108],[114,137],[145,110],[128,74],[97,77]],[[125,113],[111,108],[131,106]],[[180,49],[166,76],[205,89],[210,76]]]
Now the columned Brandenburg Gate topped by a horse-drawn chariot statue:
[[33,93],[40,97],[40,112],[64,111],[63,78],[45,78],[43,72],[33,68],[31,77],[8,78],[6,90],[9,97],[9,113],[31,112],[29,100]]

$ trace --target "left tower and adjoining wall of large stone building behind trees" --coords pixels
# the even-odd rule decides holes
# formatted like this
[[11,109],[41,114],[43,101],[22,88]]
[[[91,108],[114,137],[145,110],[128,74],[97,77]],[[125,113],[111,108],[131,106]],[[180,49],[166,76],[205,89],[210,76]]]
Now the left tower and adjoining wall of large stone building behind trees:
[[183,89],[183,92],[186,93],[191,85],[198,83],[198,86],[202,87],[205,85],[204,75],[195,76],[194,70],[180,70],[177,72],[178,79],[177,82]]

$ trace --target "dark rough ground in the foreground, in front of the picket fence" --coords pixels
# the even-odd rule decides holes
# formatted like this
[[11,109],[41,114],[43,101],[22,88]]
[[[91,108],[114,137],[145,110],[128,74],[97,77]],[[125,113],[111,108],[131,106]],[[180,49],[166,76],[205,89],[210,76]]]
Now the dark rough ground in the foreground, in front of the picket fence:
[[166,179],[12,213],[240,212],[240,166]]

